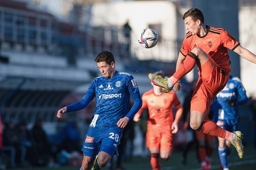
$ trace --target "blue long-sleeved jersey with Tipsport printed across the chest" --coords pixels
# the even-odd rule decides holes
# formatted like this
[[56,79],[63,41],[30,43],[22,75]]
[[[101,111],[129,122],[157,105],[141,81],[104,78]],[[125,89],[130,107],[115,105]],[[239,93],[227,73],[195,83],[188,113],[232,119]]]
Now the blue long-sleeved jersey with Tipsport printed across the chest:
[[[134,105],[128,112],[130,95]],[[140,91],[132,75],[116,71],[109,79],[95,78],[82,100],[68,105],[67,112],[84,109],[94,97],[96,97],[96,107],[90,126],[100,129],[117,127],[116,123],[120,118],[126,116],[131,119],[142,105]]]

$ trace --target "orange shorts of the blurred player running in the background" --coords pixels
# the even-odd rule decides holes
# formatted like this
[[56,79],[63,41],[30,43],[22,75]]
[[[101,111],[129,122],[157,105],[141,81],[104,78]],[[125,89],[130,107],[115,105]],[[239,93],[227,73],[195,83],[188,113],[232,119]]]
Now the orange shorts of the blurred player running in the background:
[[148,126],[146,146],[149,150],[158,148],[160,151],[172,151],[171,126]]

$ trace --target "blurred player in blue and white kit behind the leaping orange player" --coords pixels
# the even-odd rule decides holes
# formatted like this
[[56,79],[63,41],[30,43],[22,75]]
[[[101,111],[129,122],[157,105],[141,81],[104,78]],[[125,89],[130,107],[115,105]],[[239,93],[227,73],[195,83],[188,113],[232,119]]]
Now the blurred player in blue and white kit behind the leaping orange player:
[[[227,131],[236,131],[238,120],[237,105],[245,104],[248,98],[243,84],[238,77],[230,75],[228,83],[212,101],[213,121]],[[220,162],[224,170],[228,170],[228,154],[231,145],[228,140],[218,138]]]

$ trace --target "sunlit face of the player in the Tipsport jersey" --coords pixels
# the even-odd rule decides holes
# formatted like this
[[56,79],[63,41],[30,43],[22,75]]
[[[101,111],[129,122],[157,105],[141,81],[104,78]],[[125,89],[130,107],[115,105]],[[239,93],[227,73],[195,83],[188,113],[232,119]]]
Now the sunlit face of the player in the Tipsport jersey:
[[100,73],[105,78],[111,78],[115,74],[115,63],[113,61],[110,65],[107,64],[105,61],[98,62],[97,65]]

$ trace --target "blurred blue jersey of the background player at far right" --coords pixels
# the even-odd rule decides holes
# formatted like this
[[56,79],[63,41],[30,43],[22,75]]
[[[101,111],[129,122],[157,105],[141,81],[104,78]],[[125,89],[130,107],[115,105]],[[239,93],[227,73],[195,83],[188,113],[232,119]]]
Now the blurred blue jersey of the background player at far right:
[[237,104],[245,104],[247,102],[248,98],[240,79],[230,75],[224,89],[212,101],[213,121],[220,120],[226,124],[235,125],[238,118]]

